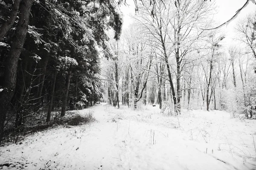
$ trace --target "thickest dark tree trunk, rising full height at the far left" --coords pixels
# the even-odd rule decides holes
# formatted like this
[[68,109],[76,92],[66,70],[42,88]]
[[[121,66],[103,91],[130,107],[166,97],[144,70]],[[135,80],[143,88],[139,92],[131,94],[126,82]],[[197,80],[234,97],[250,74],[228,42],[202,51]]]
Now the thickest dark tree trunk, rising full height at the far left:
[[6,119],[6,111],[8,110],[16,86],[17,64],[28,31],[31,6],[32,0],[23,0],[20,4],[20,18],[6,60],[5,82],[3,84],[3,91],[0,92],[0,144]]

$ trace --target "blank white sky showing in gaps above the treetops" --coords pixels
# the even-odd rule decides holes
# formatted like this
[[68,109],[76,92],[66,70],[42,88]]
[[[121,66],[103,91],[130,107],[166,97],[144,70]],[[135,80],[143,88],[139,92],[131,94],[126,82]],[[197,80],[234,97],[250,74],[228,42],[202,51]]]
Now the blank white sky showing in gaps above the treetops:
[[[241,8],[247,0],[211,0],[212,3],[216,3],[217,14],[215,14],[214,19],[217,23],[222,24],[229,20],[236,11]],[[130,13],[135,14],[135,7],[133,0],[126,0],[128,6],[120,7],[122,13],[124,14],[123,29],[125,29],[131,23],[131,18],[128,16]],[[229,22],[229,24],[222,26],[220,29],[226,33],[226,42],[232,42],[233,38],[236,37],[236,31],[233,29],[236,23],[245,17],[247,14],[256,11],[256,5],[253,4],[253,0],[250,0],[249,5],[247,5],[242,11],[240,11],[238,17]],[[216,25],[218,26],[218,25]],[[224,39],[225,40],[225,39]]]

